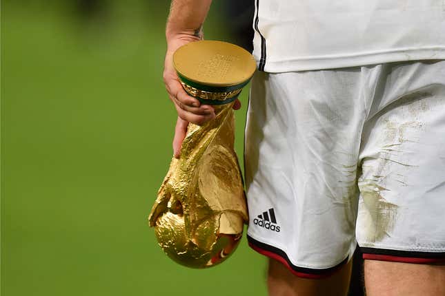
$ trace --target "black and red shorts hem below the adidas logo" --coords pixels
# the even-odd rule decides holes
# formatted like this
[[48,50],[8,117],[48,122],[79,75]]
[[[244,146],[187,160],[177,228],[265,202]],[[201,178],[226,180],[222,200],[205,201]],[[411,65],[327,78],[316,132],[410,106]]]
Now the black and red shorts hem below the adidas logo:
[[292,264],[290,262],[288,255],[282,251],[281,249],[278,249],[275,246],[270,246],[268,244],[264,244],[264,242],[259,242],[255,240],[253,237],[250,237],[247,235],[247,240],[250,248],[257,251],[261,255],[264,255],[266,257],[272,258],[274,260],[277,260],[278,262],[281,262],[286,266],[290,272],[292,272],[297,277],[303,277],[306,279],[322,279],[324,277],[328,277],[329,275],[332,275],[337,271],[339,268],[341,268],[344,264],[348,262],[348,257],[346,257],[342,262],[339,264],[329,267],[329,268],[307,268],[307,267],[300,267]]

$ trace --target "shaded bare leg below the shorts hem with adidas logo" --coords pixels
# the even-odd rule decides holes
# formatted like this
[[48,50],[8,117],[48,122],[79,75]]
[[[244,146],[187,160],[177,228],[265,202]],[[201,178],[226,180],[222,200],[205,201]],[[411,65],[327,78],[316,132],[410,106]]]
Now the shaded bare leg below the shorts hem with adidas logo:
[[284,264],[269,260],[268,291],[270,296],[346,295],[352,260],[333,275],[322,279],[305,279],[291,273]]

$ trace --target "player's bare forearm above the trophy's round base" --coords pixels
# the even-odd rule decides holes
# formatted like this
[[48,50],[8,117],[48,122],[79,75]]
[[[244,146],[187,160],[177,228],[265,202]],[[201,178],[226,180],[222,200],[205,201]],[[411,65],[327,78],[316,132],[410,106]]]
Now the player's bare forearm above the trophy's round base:
[[202,25],[212,0],[172,0],[166,26],[167,41],[184,36],[202,38]]

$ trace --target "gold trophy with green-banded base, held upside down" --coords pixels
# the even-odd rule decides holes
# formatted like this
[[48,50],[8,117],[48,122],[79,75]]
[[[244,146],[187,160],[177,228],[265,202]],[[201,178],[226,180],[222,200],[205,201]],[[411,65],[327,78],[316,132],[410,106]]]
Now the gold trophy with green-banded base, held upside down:
[[172,260],[205,268],[235,251],[248,221],[232,106],[256,64],[246,50],[221,41],[188,43],[173,64],[186,92],[214,105],[216,118],[188,125],[181,156],[172,159],[148,220]]

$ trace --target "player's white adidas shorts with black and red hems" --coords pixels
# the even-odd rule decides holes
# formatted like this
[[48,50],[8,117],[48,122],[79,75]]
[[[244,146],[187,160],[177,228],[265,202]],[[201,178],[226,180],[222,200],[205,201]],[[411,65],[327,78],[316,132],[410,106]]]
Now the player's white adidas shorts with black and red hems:
[[302,277],[445,258],[445,61],[268,74],[246,123],[248,240]]

